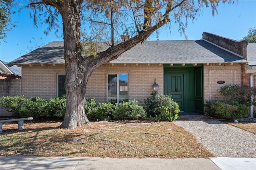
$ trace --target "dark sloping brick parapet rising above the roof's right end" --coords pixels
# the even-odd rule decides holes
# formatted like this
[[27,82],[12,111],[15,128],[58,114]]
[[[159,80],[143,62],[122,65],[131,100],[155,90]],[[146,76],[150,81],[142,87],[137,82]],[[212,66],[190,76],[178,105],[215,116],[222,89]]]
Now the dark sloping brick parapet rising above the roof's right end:
[[238,42],[236,40],[231,40],[229,38],[221,37],[215,34],[210,34],[208,32],[203,32],[203,39],[207,40],[209,42],[215,43],[216,45],[219,45],[220,47],[223,47],[225,49],[228,49],[230,51],[233,51],[234,53],[237,53],[246,59],[246,47],[248,45],[247,41],[241,41]]

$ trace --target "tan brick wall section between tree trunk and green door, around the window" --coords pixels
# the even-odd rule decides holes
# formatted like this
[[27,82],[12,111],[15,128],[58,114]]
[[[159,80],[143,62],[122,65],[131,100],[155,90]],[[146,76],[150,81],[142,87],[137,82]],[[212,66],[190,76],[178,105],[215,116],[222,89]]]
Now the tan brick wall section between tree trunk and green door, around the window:
[[159,64],[106,64],[95,70],[89,77],[86,98],[95,97],[97,102],[107,100],[108,73],[128,73],[128,99],[140,100],[150,96],[156,78],[159,85],[158,93],[163,94],[163,66]]

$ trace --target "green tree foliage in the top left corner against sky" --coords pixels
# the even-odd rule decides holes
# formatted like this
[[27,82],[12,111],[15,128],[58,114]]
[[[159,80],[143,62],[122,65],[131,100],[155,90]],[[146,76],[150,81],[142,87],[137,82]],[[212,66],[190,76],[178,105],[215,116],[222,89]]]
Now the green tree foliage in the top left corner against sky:
[[14,7],[14,0],[0,0],[0,40],[4,40],[7,37],[7,32],[11,31],[13,27],[16,27],[15,21],[12,21],[12,11]]

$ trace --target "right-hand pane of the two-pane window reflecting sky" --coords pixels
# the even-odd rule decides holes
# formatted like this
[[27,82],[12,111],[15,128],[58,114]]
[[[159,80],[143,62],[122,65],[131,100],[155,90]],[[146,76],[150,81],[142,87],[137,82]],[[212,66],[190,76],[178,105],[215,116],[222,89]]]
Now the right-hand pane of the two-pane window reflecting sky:
[[128,101],[128,74],[119,74],[119,101]]

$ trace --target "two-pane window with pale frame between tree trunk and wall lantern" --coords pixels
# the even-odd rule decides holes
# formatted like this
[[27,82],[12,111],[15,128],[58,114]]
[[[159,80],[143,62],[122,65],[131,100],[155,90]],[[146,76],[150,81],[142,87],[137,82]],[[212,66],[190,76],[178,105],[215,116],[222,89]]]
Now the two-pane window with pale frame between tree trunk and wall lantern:
[[128,74],[108,74],[108,101],[128,101]]

